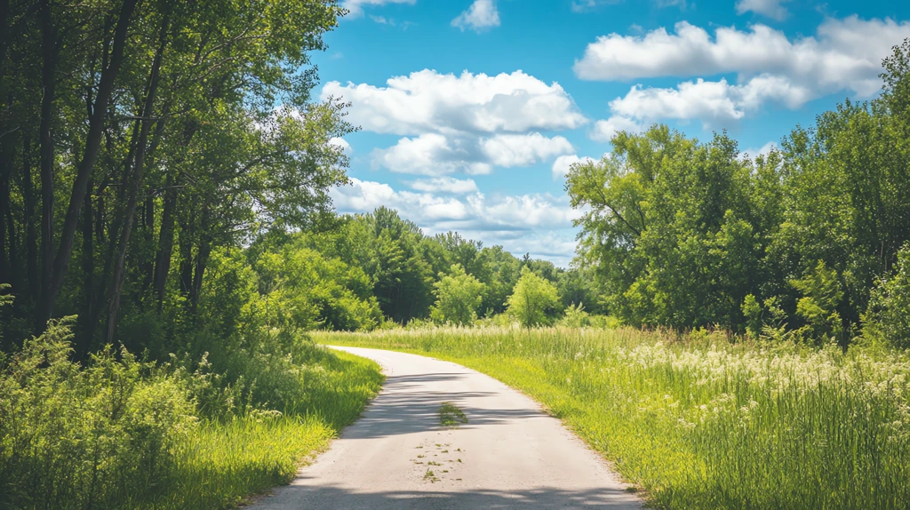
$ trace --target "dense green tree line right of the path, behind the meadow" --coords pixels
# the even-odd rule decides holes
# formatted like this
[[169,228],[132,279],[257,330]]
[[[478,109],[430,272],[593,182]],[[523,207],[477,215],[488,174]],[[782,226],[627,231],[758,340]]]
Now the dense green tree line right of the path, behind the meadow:
[[629,325],[910,345],[910,41],[884,89],[741,155],[655,125],[574,165],[581,265]]

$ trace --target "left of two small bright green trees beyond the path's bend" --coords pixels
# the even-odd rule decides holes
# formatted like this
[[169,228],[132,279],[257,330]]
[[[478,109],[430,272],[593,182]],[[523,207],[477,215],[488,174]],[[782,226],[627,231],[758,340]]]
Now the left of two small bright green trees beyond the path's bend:
[[453,264],[449,274],[440,274],[440,281],[433,284],[436,304],[430,309],[430,317],[440,323],[469,325],[477,318],[485,286],[465,273],[460,264]]

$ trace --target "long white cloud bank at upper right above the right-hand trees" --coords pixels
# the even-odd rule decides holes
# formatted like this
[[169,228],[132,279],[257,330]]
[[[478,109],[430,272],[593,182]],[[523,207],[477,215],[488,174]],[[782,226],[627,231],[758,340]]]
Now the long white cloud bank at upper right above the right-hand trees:
[[860,96],[881,89],[880,61],[894,41],[910,36],[910,23],[828,19],[814,37],[791,41],[765,25],[749,31],[720,28],[712,38],[682,22],[642,36],[608,35],[588,46],[575,71],[588,79],[736,73],[736,83],[699,78],[675,87],[633,85],[610,102],[611,116],[597,121],[591,138],[609,141],[618,131],[641,131],[664,119],[698,119],[704,127],[741,121],[763,105],[798,108],[844,89]]

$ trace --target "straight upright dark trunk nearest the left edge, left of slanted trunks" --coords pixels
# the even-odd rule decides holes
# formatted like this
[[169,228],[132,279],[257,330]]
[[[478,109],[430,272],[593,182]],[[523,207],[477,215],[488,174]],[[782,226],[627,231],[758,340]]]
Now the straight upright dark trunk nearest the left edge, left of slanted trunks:
[[54,296],[51,275],[54,269],[54,116],[56,59],[59,51],[51,0],[41,0],[41,293],[35,312],[35,332],[42,333],[51,316]]

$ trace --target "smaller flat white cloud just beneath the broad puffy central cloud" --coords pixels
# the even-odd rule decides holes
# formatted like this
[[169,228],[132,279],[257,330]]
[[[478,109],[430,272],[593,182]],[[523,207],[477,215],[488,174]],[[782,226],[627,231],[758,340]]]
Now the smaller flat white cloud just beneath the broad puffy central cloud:
[[428,133],[401,138],[396,145],[374,150],[373,163],[402,174],[478,175],[490,174],[494,165],[534,165],[572,150],[562,136],[548,138],[539,133],[490,137]]

